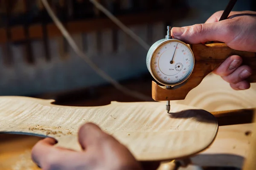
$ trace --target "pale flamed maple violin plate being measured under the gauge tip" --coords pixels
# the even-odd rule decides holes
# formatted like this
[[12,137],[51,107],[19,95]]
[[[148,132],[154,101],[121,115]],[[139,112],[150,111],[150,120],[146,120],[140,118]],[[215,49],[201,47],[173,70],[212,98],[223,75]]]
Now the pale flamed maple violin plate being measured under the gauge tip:
[[185,105],[175,105],[169,115],[160,102],[70,107],[52,101],[0,97],[0,131],[50,136],[58,140],[56,146],[81,150],[79,127],[93,122],[125,144],[137,160],[156,161],[198,153],[212,143],[218,130],[211,113]]

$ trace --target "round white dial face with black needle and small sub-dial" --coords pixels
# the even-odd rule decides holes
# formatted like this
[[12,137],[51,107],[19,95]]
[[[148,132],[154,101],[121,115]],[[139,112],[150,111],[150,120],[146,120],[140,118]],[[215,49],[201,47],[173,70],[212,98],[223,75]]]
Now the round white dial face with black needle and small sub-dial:
[[164,85],[183,82],[191,74],[194,57],[190,48],[177,40],[160,45],[152,55],[151,71]]

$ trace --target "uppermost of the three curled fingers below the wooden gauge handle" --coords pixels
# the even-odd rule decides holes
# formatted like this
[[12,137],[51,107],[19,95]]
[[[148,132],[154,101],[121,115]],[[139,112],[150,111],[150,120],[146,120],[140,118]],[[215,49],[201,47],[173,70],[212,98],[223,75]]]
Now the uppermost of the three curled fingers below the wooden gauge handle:
[[221,65],[218,66],[214,71],[212,71],[214,74],[217,74],[221,77],[225,77],[233,73],[236,68],[238,68],[242,64],[242,57],[233,55],[225,59],[224,62],[221,63]]

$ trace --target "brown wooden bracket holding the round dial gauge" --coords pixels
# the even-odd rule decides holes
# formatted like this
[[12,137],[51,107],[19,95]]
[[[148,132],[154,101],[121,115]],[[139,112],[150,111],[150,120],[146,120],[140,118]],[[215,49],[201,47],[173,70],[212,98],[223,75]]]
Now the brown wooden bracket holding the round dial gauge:
[[155,101],[183,100],[193,88],[198,86],[204,77],[217,68],[231,55],[239,55],[243,65],[252,68],[252,75],[247,78],[250,83],[256,82],[256,53],[238,51],[229,48],[224,43],[194,44],[191,45],[195,57],[195,66],[190,77],[177,87],[167,89],[152,81],[152,98]]

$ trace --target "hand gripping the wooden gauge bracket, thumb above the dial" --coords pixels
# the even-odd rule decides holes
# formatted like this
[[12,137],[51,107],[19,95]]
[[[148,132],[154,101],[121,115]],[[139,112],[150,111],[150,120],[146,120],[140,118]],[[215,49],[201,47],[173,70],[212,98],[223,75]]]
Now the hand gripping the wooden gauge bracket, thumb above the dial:
[[[235,50],[256,52],[256,12],[232,11],[227,20],[218,22],[222,13],[216,12],[204,24],[174,27],[171,35],[188,44],[220,41]],[[235,90],[250,88],[245,79],[251,75],[252,69],[242,65],[242,58],[237,55],[228,57],[213,73],[229,82]]]

